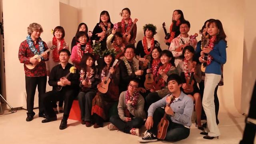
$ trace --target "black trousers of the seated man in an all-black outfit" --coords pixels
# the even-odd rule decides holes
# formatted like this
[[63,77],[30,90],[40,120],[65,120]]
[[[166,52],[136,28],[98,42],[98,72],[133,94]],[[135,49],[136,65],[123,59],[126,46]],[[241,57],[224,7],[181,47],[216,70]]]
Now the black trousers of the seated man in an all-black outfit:
[[65,88],[63,87],[62,90],[57,91],[57,90],[52,90],[50,92],[46,92],[43,97],[43,104],[45,108],[45,115],[47,117],[55,117],[56,114],[54,110],[52,109],[52,102],[57,102],[59,100],[64,100],[64,114],[63,114],[63,119],[67,120],[70,109],[72,107],[73,100],[75,98],[75,92],[71,88]]

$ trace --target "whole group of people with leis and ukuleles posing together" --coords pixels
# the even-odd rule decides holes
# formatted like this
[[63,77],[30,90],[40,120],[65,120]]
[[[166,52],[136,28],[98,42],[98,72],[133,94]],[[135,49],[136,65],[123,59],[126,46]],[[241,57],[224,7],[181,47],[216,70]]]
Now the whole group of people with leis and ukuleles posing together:
[[[138,140],[155,142],[158,123],[166,114],[170,124],[162,139],[176,141],[189,136],[195,109],[196,126],[203,138],[218,138],[217,89],[223,85],[227,45],[220,20],[207,20],[200,30],[202,40],[197,42],[196,34],[188,34],[190,22],[183,12],[174,10],[170,37],[165,40],[170,46],[162,50],[154,39],[154,24],[143,26],[144,37],[135,47],[137,20],[132,21],[130,15],[129,8],[124,8],[121,22],[112,24],[109,13],[102,11],[92,32],[85,23],[79,24],[71,53],[62,26],[54,28],[47,44],[40,38],[40,24],[28,26],[28,36],[18,53],[26,75],[26,121],[35,115],[38,86],[39,117],[45,118],[42,123],[57,120],[59,101],[59,112],[64,113],[60,130],[67,128],[72,102],[77,98],[81,123],[86,127],[100,128],[109,121],[109,130],[140,136],[140,127],[145,124],[147,131]],[[138,67],[134,57],[139,60]],[[47,76],[52,86],[49,92]],[[204,116],[207,123],[202,124]]]

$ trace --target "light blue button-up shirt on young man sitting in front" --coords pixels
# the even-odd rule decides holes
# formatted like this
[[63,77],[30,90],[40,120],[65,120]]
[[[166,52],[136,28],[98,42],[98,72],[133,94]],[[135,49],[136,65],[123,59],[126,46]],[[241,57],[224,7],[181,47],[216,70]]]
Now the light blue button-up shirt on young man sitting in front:
[[[171,94],[168,94],[167,96],[170,95]],[[148,116],[153,116],[156,108],[166,106],[167,96],[150,105],[148,108]],[[174,117],[171,116],[172,122],[182,124],[184,126],[191,126],[191,116],[194,109],[192,98],[181,92],[178,99],[174,100],[170,107],[175,112]]]

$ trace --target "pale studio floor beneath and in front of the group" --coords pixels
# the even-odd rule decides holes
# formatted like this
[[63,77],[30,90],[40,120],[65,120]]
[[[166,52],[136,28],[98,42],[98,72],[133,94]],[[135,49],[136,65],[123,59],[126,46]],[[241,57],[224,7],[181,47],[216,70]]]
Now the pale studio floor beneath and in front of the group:
[[[86,128],[85,125],[75,120],[68,120],[68,128],[59,130],[62,114],[58,120],[41,123],[43,118],[38,118],[38,109],[35,109],[34,120],[26,122],[26,110],[18,110],[8,115],[0,115],[0,144],[136,144],[138,136],[125,134],[114,130],[109,131],[107,124],[103,128]],[[7,113],[5,111],[5,113]],[[244,130],[244,116],[237,112],[219,113],[221,136],[213,140],[203,139],[201,132],[192,124],[190,136],[173,144],[238,144]],[[141,130],[141,136],[145,128]],[[156,144],[170,143],[165,141]]]

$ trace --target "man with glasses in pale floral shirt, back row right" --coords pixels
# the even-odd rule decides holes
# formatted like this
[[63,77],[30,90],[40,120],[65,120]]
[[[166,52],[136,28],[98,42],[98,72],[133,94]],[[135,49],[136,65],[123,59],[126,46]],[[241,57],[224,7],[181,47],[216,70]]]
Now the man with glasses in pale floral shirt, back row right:
[[[190,22],[183,21],[180,23],[180,35],[174,38],[170,44],[169,51],[172,52],[172,55],[175,58],[175,66],[182,61],[182,49],[185,46],[191,45],[194,49],[196,49],[197,40],[196,38],[192,38],[192,36],[188,35],[190,30]],[[180,49],[181,48],[181,49]],[[181,51],[180,51],[180,50]]]

